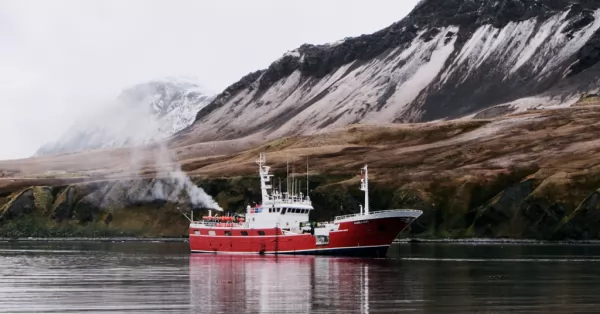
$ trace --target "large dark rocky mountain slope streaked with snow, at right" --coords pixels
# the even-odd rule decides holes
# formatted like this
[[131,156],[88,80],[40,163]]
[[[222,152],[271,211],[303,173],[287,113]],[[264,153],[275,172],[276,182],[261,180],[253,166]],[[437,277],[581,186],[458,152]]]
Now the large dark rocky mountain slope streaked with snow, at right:
[[181,135],[277,138],[568,106],[600,78],[599,8],[591,0],[423,0],[376,33],[289,51],[229,86]]

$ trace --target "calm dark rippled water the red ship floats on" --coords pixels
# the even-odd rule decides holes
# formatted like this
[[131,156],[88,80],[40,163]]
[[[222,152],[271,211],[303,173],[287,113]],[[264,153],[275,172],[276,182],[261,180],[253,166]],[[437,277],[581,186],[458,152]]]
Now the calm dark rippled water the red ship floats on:
[[1,313],[585,313],[600,246],[400,244],[397,259],[0,243]]

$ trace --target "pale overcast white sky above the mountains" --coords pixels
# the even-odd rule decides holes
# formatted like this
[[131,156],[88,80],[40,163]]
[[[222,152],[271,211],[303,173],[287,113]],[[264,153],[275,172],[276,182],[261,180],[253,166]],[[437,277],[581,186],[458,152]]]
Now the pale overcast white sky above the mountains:
[[0,0],[0,160],[29,157],[121,90],[219,93],[286,51],[375,32],[417,0]]

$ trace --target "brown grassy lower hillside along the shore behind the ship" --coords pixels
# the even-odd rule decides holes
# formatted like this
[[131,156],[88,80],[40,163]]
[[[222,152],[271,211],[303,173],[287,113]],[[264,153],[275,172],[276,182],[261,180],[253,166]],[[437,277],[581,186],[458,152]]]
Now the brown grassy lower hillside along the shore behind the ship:
[[[285,174],[290,158],[300,180],[308,157],[313,219],[358,210],[358,169],[366,160],[372,208],[424,211],[412,236],[597,239],[599,104],[597,97],[586,97],[573,108],[491,119],[351,125],[237,153],[210,154],[192,145],[175,148],[171,155],[226,211],[243,211],[258,200],[253,161],[266,152],[277,176]],[[67,232],[66,226],[109,234],[185,234],[179,210],[190,205],[140,198],[161,180],[153,158],[133,169],[129,153],[120,149],[1,162],[0,231],[14,234],[23,224],[34,224],[36,235]]]

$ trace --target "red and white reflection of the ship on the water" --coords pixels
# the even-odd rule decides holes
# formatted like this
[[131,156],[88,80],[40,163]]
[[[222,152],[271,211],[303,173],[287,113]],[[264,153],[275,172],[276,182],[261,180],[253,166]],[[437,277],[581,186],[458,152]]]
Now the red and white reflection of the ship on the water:
[[[190,300],[194,310],[206,313],[369,313],[375,305],[391,310],[397,302],[411,300],[397,280],[393,286],[383,284],[389,275],[382,271],[386,263],[315,256],[193,255]],[[373,273],[373,268],[378,271]],[[373,285],[378,287],[375,293]]]

